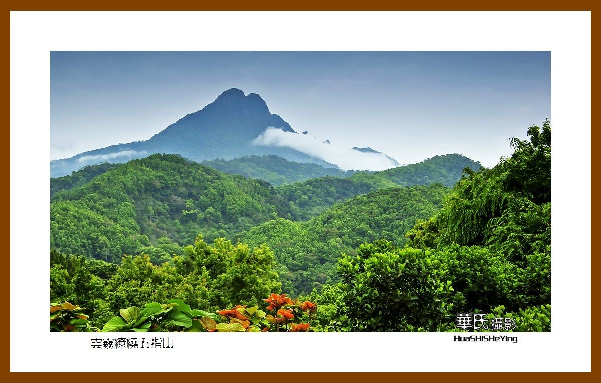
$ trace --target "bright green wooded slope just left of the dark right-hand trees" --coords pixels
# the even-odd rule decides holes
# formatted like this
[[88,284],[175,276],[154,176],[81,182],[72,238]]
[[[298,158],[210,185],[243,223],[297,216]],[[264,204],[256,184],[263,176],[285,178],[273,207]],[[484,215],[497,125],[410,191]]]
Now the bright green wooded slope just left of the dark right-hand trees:
[[307,222],[278,219],[252,228],[239,241],[266,243],[275,253],[284,291],[311,292],[338,282],[335,264],[341,252],[364,242],[391,238],[403,246],[416,220],[442,207],[450,189],[441,184],[387,188],[336,204]]

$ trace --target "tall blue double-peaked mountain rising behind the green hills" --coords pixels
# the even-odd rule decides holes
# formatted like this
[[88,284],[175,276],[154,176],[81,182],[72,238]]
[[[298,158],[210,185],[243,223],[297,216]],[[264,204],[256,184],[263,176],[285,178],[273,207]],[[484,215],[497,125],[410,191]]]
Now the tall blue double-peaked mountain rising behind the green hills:
[[66,175],[85,165],[126,162],[153,153],[180,154],[199,162],[267,154],[290,161],[334,166],[291,148],[252,145],[252,140],[267,127],[296,133],[288,122],[270,112],[260,95],[245,95],[240,89],[231,88],[203,109],[183,116],[148,140],[111,145],[50,161],[50,176]]

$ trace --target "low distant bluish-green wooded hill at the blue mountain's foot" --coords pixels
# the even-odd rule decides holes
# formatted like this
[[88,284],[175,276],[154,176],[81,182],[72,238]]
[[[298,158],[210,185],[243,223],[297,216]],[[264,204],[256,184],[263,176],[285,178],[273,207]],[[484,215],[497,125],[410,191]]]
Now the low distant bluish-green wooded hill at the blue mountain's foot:
[[203,161],[203,164],[224,173],[263,179],[273,186],[292,184],[323,176],[346,177],[356,173],[356,170],[345,171],[334,165],[323,167],[315,163],[288,161],[277,155],[248,155],[233,160],[219,158]]

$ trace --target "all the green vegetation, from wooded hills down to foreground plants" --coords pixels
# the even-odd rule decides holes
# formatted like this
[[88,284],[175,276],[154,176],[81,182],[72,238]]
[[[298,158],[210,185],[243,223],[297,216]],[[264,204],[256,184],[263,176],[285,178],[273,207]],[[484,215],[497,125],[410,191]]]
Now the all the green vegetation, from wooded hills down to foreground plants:
[[51,198],[51,330],[462,331],[483,312],[550,331],[549,121],[528,137],[492,169],[278,188],[177,155],[75,172]]

